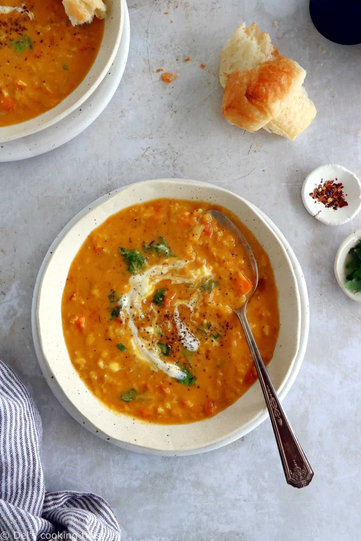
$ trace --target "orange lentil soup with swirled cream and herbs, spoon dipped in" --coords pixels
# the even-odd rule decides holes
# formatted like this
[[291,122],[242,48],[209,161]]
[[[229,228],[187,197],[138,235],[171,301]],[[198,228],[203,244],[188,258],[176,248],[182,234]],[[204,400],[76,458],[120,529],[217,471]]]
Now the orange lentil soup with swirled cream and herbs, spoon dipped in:
[[[153,423],[192,423],[234,403],[257,378],[233,308],[251,267],[209,203],[159,199],[110,216],[69,270],[62,321],[70,359],[112,410]],[[270,260],[251,242],[259,286],[248,319],[268,363],[279,331]]]

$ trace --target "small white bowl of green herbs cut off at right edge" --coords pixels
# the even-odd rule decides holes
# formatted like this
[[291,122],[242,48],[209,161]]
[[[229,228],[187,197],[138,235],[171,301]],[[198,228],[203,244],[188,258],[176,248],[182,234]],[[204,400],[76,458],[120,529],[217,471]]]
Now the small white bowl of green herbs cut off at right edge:
[[337,250],[334,274],[346,295],[361,302],[361,229],[349,235]]

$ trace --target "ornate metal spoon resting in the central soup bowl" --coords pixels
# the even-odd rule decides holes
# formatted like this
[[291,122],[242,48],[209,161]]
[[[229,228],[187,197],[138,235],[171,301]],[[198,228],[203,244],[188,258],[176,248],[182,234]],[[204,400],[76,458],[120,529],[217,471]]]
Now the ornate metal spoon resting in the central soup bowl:
[[272,385],[271,379],[268,376],[266,366],[262,361],[261,355],[258,351],[257,344],[254,341],[253,334],[250,325],[247,321],[247,302],[251,299],[255,289],[258,285],[258,268],[255,261],[251,246],[248,244],[246,237],[239,230],[232,220],[230,220],[225,214],[219,212],[219,210],[210,210],[209,214],[215,218],[222,226],[227,227],[237,236],[237,239],[244,247],[246,255],[250,260],[252,271],[254,274],[254,280],[252,281],[252,288],[247,293],[246,302],[240,308],[234,310],[238,315],[244,330],[248,347],[250,348],[254,366],[257,370],[259,382],[261,384],[262,392],[265,397],[268,413],[273,427],[275,439],[277,441],[278,451],[281,457],[281,463],[285,472],[286,481],[289,485],[302,489],[311,483],[314,472],[307,460],[303,448],[300,446],[296,434],[293,432],[293,428],[290,425],[286,414],[278,399],[277,393]]

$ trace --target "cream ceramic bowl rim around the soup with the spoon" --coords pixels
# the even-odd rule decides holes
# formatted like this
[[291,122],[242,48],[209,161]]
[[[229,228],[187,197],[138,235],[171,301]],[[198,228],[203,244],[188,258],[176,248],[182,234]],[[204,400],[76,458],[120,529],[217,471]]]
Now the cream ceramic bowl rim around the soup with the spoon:
[[[108,410],[95,398],[71,364],[62,332],[61,299],[69,266],[87,235],[111,214],[157,197],[206,200],[237,214],[270,256],[279,289],[280,333],[268,372],[279,393],[288,385],[302,341],[300,295],[283,243],[257,210],[241,197],[211,184],[154,180],[131,184],[102,197],[76,216],[50,247],[35,288],[33,336],[43,373],[67,410],[88,430],[116,445],[157,454],[190,454],[224,445],[257,426],[265,415],[258,383],[235,404],[211,419],[188,425],[156,425]],[[294,379],[294,378],[293,378]],[[292,381],[293,381],[292,379]],[[54,385],[56,382],[56,386]],[[287,387],[288,390],[289,386]]]

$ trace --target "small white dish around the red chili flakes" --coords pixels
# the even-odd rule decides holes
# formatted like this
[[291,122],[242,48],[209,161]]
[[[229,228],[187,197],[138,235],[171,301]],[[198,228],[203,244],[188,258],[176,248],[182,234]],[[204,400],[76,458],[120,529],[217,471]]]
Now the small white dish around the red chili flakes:
[[[337,181],[336,181],[337,179]],[[345,194],[345,200],[349,203],[346,207],[334,210],[326,208],[323,203],[319,203],[317,199],[312,199],[310,193],[319,184],[324,184],[326,181],[334,180],[334,182],[342,182]],[[348,222],[361,209],[361,184],[356,175],[351,173],[343,166],[336,163],[329,163],[324,166],[317,167],[309,175],[306,176],[302,187],[302,200],[306,210],[326,226],[340,226]]]

